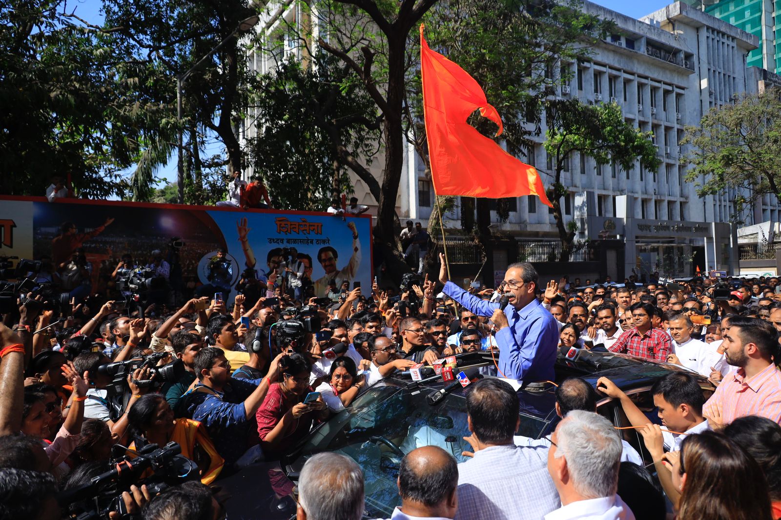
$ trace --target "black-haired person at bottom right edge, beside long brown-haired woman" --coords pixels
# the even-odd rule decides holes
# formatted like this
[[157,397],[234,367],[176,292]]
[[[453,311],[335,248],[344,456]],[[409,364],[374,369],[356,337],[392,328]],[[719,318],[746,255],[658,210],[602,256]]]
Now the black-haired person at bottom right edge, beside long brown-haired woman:
[[769,418],[747,415],[736,418],[724,429],[758,462],[770,489],[773,520],[781,518],[781,426]]

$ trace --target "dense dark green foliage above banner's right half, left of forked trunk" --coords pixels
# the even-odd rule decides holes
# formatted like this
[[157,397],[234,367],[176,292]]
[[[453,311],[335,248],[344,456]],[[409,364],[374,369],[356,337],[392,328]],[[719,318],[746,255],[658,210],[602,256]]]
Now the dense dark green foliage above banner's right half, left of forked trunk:
[[355,74],[329,55],[312,59],[316,67],[283,60],[250,98],[258,129],[251,162],[282,209],[323,211],[333,192],[351,193],[348,163],[357,156],[369,166],[380,143],[375,105]]

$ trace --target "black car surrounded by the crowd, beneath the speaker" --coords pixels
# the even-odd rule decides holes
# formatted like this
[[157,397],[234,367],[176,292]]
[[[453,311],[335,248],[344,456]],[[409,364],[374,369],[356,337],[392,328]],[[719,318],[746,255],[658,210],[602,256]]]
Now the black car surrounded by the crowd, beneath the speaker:
[[[491,377],[496,373],[490,353],[461,354],[458,369],[471,377]],[[651,386],[677,365],[648,362],[623,354],[583,351],[576,362],[559,356],[556,381],[520,386],[521,418],[516,435],[539,439],[555,429],[555,385],[568,377],[586,379],[596,386],[602,376],[612,379],[649,419],[659,422]],[[471,451],[464,440],[469,436],[466,422],[465,388],[457,382],[445,384],[429,372],[422,381],[412,381],[408,373],[392,376],[366,390],[350,408],[333,415],[314,429],[296,450],[278,465],[255,465],[219,483],[231,494],[226,504],[228,518],[291,518],[295,502],[288,496],[305,461],[323,451],[336,451],[353,458],[363,469],[366,486],[366,518],[390,518],[401,503],[396,479],[401,458],[416,447],[436,445],[464,461],[462,451]],[[700,379],[704,396],[715,390],[708,379]],[[597,404],[597,411],[615,426],[630,426],[621,405],[609,397]],[[640,433],[622,430],[645,464],[651,458]],[[265,497],[264,497],[265,495]]]

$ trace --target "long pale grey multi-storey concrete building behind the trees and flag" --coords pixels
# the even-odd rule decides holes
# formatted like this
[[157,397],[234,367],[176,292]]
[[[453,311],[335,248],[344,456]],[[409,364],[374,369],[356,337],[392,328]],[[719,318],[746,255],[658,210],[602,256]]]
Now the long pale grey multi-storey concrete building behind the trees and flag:
[[[266,37],[285,41],[280,20],[307,20],[296,19],[301,12],[294,3],[282,5],[273,15],[267,13],[268,20],[262,20],[258,27]],[[686,166],[682,159],[687,150],[679,143],[683,127],[697,125],[711,107],[729,103],[734,94],[756,92],[781,80],[765,70],[747,67],[748,57],[758,48],[758,37],[683,2],[640,20],[591,2],[583,2],[583,10],[613,20],[615,32],[593,49],[588,62],[562,64],[571,68],[572,80],[557,95],[590,104],[617,103],[629,123],[653,131],[662,158],[662,166],[655,172],[644,171],[638,164],[622,171],[618,166],[599,167],[587,156],[569,158],[562,178],[568,189],[562,200],[565,222],[577,224],[580,240],[619,244],[601,257],[607,272],[594,276],[609,275],[618,280],[628,277],[633,269],[638,274],[660,271],[682,276],[693,273],[694,265],[736,272],[736,230],[730,224],[735,194],[699,198],[694,184],[683,181]],[[282,52],[300,53],[301,47],[291,43]],[[249,56],[259,72],[269,70],[278,58]],[[251,116],[242,129],[248,136],[255,131]],[[545,130],[543,121],[537,144],[521,159],[536,166],[548,185],[553,172],[541,145]],[[375,160],[374,165],[381,163]],[[380,167],[373,167],[379,176]],[[353,182],[359,201],[376,207],[360,180],[354,177]],[[425,226],[432,212],[433,189],[412,147],[399,191],[400,219],[419,220]],[[550,258],[534,251],[547,251],[539,244],[558,240],[552,211],[536,198],[516,198],[509,203],[507,222],[491,212],[492,233],[504,244],[512,242],[494,251],[494,269],[504,270],[516,258]],[[753,213],[749,215],[751,223],[777,219],[778,207],[775,201],[767,200]],[[449,237],[457,237],[462,227],[460,202],[444,217]]]

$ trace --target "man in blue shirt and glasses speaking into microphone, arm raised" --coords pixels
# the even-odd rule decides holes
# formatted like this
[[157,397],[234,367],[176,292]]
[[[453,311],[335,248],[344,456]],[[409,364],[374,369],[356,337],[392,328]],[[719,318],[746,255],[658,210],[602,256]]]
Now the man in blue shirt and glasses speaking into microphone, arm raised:
[[507,268],[505,281],[499,286],[501,303],[481,300],[448,281],[448,267],[441,253],[440,265],[444,294],[476,315],[490,316],[494,322],[499,375],[525,383],[554,380],[558,326],[534,294],[537,270],[533,265],[518,263]]

